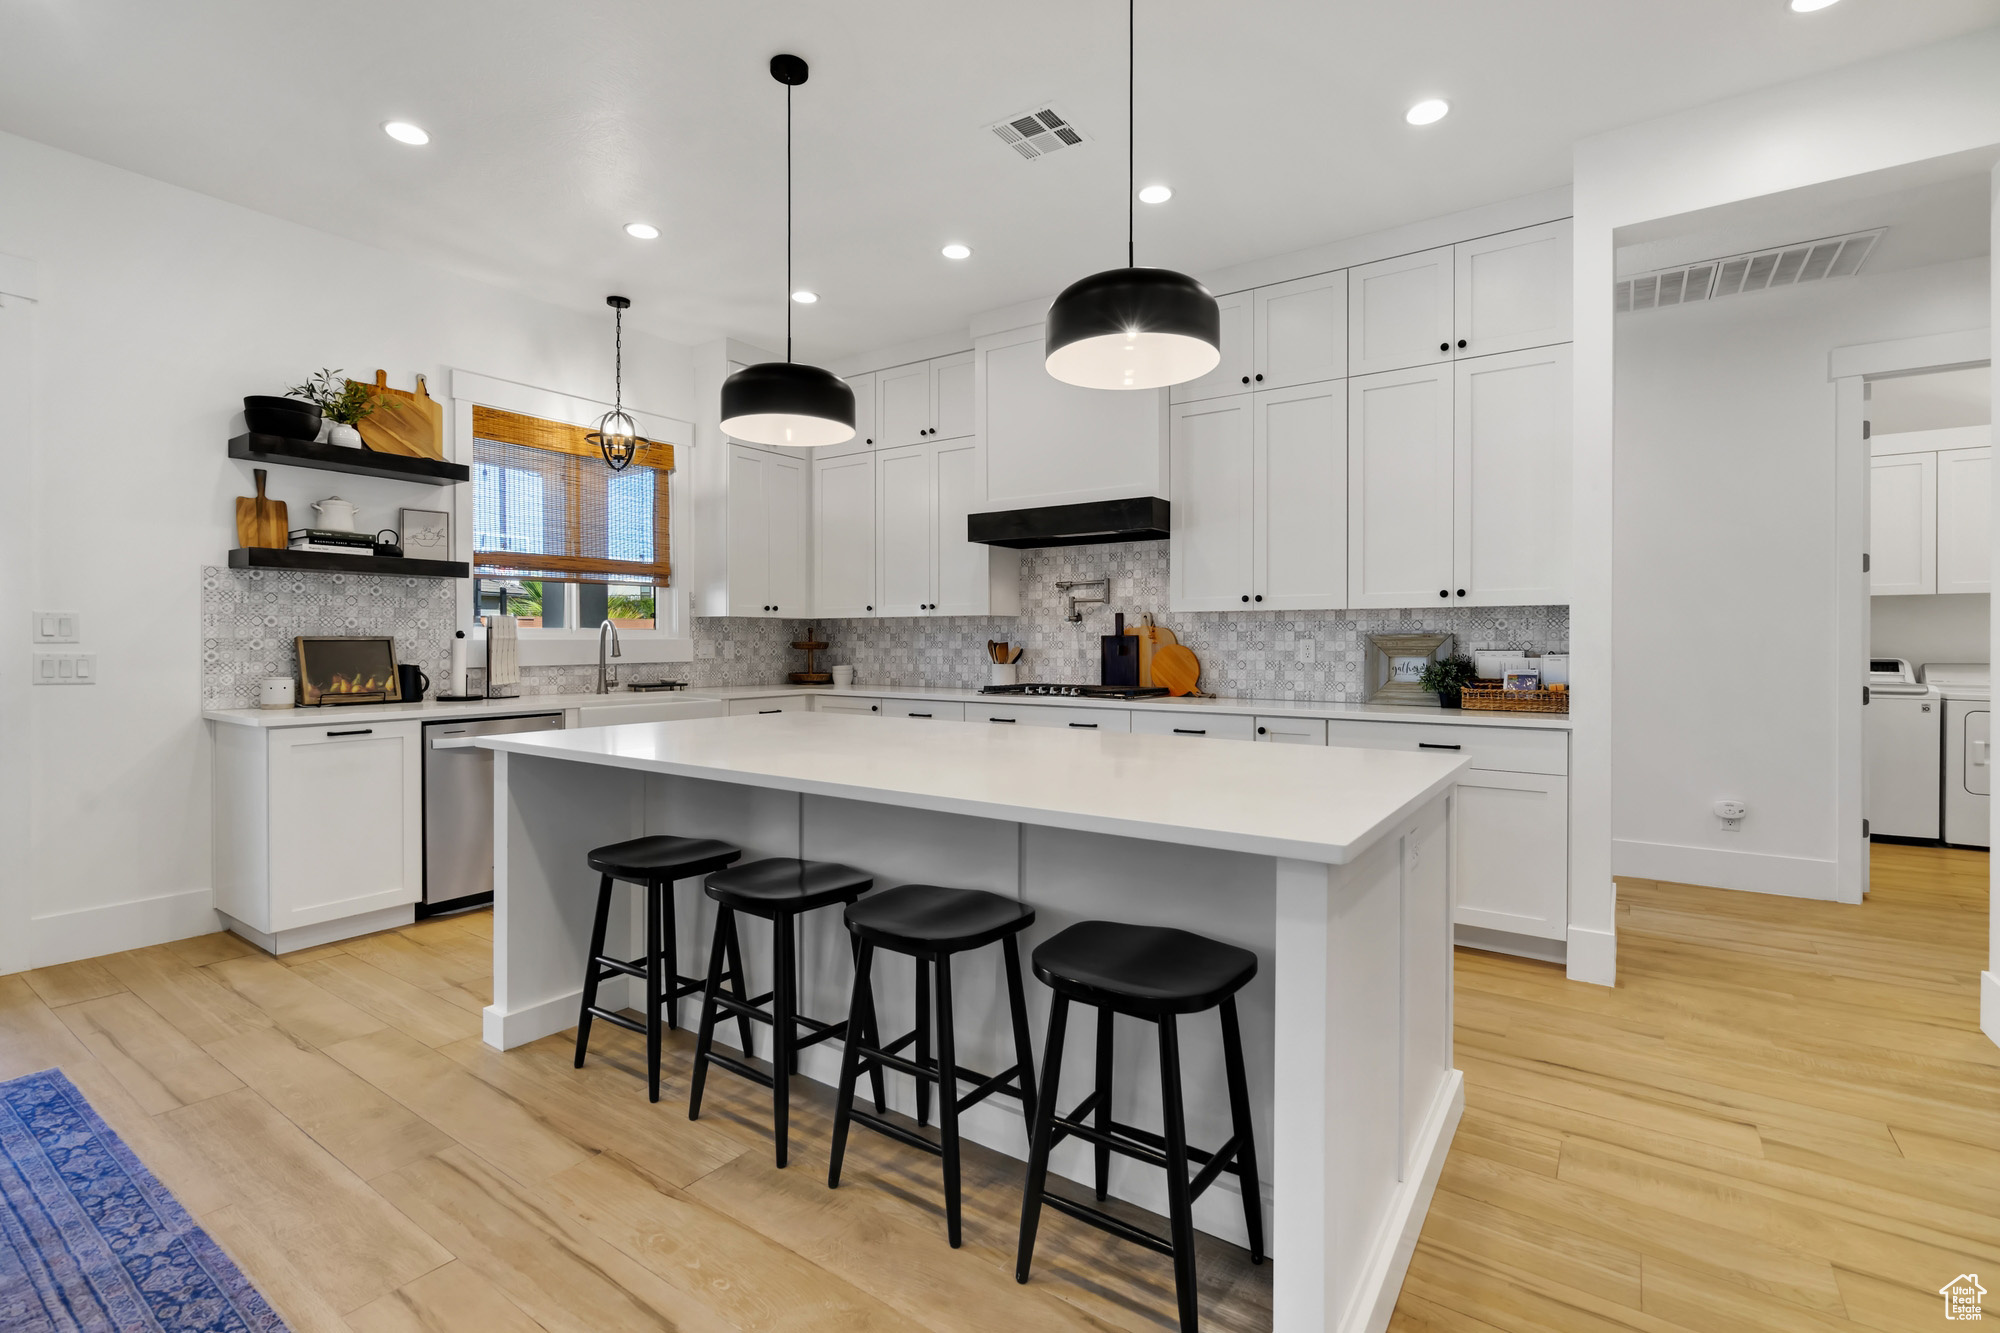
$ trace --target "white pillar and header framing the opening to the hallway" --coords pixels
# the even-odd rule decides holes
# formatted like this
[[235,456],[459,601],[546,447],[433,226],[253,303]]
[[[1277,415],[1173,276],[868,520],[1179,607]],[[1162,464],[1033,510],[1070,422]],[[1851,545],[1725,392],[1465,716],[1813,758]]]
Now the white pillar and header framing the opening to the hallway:
[[[1988,28],[1650,120],[1576,148],[1570,977],[1606,985],[1616,979],[1612,717],[1626,707],[1648,707],[1622,689],[1612,638],[1620,614],[1610,300],[1618,228],[2000,144],[1996,68],[2000,28]],[[2000,997],[2000,987],[1994,995]],[[1994,1023],[2000,1025],[2000,1015]]]

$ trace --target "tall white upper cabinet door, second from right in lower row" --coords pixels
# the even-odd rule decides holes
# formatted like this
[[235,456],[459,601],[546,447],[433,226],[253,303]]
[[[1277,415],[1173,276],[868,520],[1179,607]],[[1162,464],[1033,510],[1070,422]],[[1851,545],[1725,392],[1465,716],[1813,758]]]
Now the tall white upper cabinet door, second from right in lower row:
[[1348,604],[1448,604],[1452,524],[1452,366],[1348,380]]

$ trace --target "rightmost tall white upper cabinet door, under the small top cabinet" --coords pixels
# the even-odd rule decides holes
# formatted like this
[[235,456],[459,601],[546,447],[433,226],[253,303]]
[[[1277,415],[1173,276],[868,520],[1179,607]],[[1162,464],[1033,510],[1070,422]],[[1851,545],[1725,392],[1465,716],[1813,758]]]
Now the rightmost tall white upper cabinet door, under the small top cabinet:
[[1454,388],[1452,600],[1570,600],[1570,344],[1464,358]]

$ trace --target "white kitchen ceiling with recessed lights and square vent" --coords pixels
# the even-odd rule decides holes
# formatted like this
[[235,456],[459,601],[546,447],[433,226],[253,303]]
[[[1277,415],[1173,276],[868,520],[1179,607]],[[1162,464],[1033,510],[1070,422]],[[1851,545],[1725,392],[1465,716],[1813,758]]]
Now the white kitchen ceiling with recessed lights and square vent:
[[[1140,262],[1202,272],[1530,194],[1582,136],[1994,22],[2000,0],[1146,0],[1140,176],[1178,194],[1140,210]],[[1116,0],[0,0],[0,128],[560,304],[626,292],[670,338],[772,346],[778,50],[812,62],[802,358],[1122,262]],[[1452,116],[1406,126],[1420,96]],[[1044,98],[1092,144],[1022,162],[986,134]],[[390,142],[390,118],[432,144]]]

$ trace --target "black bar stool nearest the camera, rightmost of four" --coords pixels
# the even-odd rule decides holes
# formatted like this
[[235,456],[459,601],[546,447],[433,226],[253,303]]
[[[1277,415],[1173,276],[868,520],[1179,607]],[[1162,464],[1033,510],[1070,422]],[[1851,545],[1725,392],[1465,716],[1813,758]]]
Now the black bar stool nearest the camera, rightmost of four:
[[[1236,1169],[1244,1191],[1244,1225],[1250,1231],[1250,1261],[1264,1263],[1264,1209],[1256,1175],[1256,1143],[1250,1133],[1250,1085],[1244,1079],[1244,1041],[1236,1027],[1236,991],[1256,977],[1256,955],[1220,941],[1166,927],[1082,921],[1042,941],[1034,951],[1034,975],[1056,991],[1048,1011],[1048,1043],[1042,1047],[1042,1103],[1034,1119],[1028,1151],[1028,1191],[1020,1211],[1020,1257],[1016,1281],[1028,1281],[1034,1233],[1042,1205],[1068,1213],[1092,1227],[1144,1245],[1174,1259],[1174,1289],[1180,1295],[1180,1327],[1194,1333],[1198,1301],[1194,1285],[1194,1201],[1218,1175]],[[1098,1085],[1070,1115],[1056,1113],[1056,1083],[1062,1077],[1062,1033],[1070,1001],[1098,1011]],[[1180,1101],[1180,1033],[1184,1013],[1222,1009],[1222,1065],[1230,1085],[1234,1133],[1214,1153],[1188,1147],[1188,1125]],[[1160,1025],[1160,1101],[1166,1133],[1156,1135],[1112,1119],[1112,1015],[1130,1015]],[[1090,1117],[1086,1121],[1086,1117]],[[1136,1157],[1166,1169],[1166,1199],[1172,1237],[1158,1237],[1110,1213],[1046,1193],[1048,1153],[1076,1135],[1096,1145],[1098,1199],[1104,1199],[1110,1155]],[[1190,1181],[1188,1163],[1202,1165]]]

